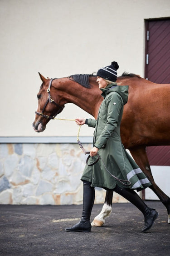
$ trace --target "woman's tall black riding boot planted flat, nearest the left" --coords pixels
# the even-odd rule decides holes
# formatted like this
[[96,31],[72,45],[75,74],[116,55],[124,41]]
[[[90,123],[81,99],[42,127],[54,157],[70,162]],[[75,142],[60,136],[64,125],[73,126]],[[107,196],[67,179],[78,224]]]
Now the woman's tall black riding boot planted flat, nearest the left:
[[90,216],[92,212],[92,206],[94,204],[95,190],[90,186],[89,181],[83,181],[83,211],[81,220],[72,227],[67,227],[66,231],[69,232],[90,232],[91,223]]

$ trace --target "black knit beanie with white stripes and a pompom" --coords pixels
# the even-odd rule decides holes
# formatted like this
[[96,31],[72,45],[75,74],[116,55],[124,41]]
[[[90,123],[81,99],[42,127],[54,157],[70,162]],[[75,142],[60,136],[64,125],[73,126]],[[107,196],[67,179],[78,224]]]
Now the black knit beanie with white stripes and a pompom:
[[116,61],[112,61],[110,66],[105,66],[97,71],[97,76],[100,76],[106,80],[116,82],[117,80],[117,69],[119,65]]

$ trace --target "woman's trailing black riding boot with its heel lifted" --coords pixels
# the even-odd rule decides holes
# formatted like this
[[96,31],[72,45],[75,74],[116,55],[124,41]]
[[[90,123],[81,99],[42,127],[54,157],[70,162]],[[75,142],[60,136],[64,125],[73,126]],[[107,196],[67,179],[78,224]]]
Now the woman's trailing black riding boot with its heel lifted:
[[129,188],[121,188],[119,186],[116,186],[114,191],[130,201],[143,213],[145,217],[145,226],[143,227],[142,232],[149,230],[158,217],[157,211],[155,211],[155,209],[149,208],[141,199],[141,197],[138,196],[135,191]]

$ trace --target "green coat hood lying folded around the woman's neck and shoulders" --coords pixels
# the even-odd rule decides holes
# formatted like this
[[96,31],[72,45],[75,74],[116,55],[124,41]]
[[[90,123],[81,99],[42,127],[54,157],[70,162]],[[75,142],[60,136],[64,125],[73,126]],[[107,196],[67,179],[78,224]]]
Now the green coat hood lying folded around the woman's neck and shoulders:
[[125,105],[128,100],[128,89],[128,85],[117,85],[117,83],[112,83],[110,85],[107,85],[106,88],[100,90],[102,90],[103,98],[105,98],[111,92],[117,92],[119,95],[121,95],[123,103]]

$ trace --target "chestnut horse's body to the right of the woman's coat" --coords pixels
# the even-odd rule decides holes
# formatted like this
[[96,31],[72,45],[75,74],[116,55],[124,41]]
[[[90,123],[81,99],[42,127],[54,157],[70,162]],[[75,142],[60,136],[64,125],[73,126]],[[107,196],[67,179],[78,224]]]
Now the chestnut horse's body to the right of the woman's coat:
[[[142,144],[170,145],[170,85],[129,86],[121,125],[126,147]],[[127,140],[127,137],[129,139]]]

